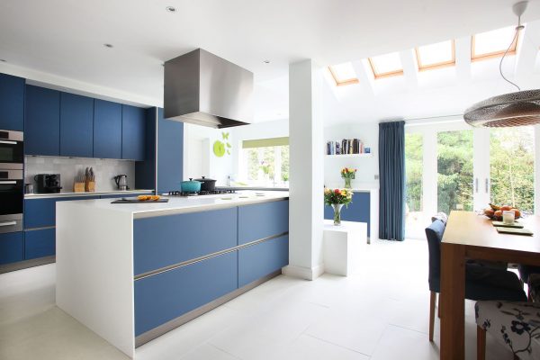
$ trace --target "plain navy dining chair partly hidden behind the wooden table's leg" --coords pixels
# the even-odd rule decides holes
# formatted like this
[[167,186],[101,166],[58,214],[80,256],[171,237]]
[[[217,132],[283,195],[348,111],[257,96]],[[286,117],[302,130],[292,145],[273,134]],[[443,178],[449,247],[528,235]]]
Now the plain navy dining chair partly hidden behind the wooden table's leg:
[[[441,220],[433,221],[426,228],[429,251],[429,341],[433,341],[435,302],[437,293],[440,293],[441,289],[441,241],[445,229],[446,224]],[[527,296],[519,282],[518,275],[500,267],[467,262],[465,264],[465,299],[525,302]],[[445,311],[445,309],[439,307],[439,313],[441,311]]]

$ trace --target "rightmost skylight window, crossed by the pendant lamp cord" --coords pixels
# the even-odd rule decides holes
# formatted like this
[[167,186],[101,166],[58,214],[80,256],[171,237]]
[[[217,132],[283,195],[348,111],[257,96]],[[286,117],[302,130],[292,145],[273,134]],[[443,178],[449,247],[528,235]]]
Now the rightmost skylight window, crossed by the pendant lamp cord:
[[486,58],[500,58],[509,49],[507,55],[515,55],[518,48],[518,39],[512,42],[516,28],[509,26],[502,29],[481,32],[473,35],[471,40],[471,59],[483,60]]

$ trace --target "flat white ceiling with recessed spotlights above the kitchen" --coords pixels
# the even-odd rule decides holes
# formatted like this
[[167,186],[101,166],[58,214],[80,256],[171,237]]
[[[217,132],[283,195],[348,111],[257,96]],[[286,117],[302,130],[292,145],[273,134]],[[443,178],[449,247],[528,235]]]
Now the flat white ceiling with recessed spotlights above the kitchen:
[[[262,85],[257,103],[267,108],[258,118],[269,120],[286,116],[283,79],[291,62],[313,58],[321,65],[335,64],[467,37],[515,23],[513,3],[2,0],[0,58],[7,62],[0,63],[0,71],[31,69],[94,89],[115,89],[127,101],[160,104],[161,64],[203,48],[255,73]],[[175,6],[174,14],[166,12],[169,5]],[[535,19],[540,19],[540,4],[531,1],[524,21]],[[271,63],[264,64],[265,59]],[[340,111],[347,109],[359,110],[346,104]]]

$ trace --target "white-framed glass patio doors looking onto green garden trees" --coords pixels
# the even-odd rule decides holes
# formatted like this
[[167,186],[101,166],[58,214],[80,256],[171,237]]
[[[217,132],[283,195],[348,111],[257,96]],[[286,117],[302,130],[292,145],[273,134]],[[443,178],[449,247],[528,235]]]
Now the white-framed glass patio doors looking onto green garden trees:
[[490,202],[534,211],[533,127],[472,129],[461,121],[410,127],[405,158],[407,238],[425,238],[438,211],[482,211]]

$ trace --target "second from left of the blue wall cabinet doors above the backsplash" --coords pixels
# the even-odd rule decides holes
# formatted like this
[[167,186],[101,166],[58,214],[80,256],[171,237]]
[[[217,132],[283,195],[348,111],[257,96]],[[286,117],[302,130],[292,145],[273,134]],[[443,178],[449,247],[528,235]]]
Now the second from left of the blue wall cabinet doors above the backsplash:
[[61,93],[60,156],[92,157],[94,154],[94,99]]

